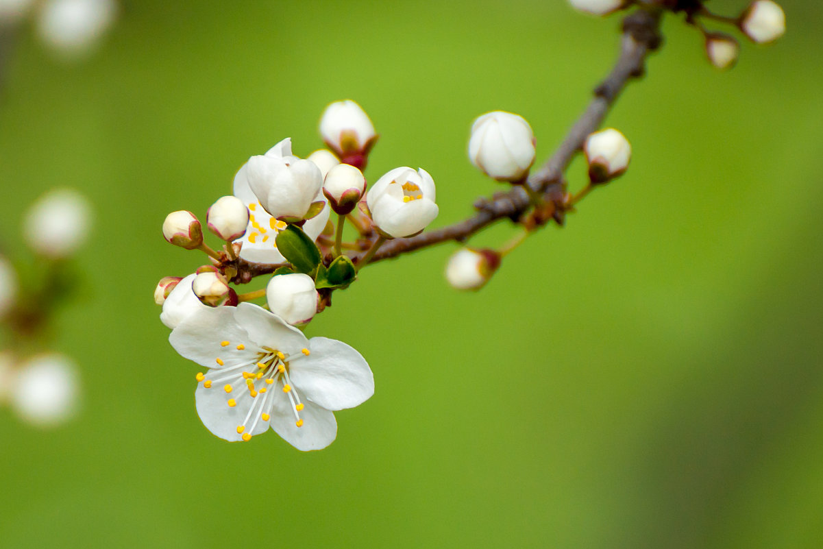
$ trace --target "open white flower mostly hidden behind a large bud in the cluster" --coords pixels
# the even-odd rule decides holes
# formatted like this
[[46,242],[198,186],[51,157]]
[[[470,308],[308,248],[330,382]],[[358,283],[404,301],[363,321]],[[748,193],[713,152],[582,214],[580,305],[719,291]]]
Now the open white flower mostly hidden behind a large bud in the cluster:
[[[296,159],[291,154],[291,139],[286,138],[269,149],[264,156],[272,158],[285,158],[291,161]],[[238,242],[243,243],[240,249],[240,257],[246,261],[256,263],[283,263],[286,258],[277,250],[275,237],[277,233],[286,228],[285,221],[277,221],[260,205],[260,201],[249,186],[249,178],[246,175],[247,165],[244,164],[235,175],[235,197],[243,201],[249,208],[249,227],[246,234]],[[322,183],[322,181],[321,181]],[[314,197],[314,202],[326,202],[322,189],[319,189]],[[316,240],[323,229],[326,228],[329,216],[328,204],[317,216],[305,222],[303,231],[309,238]]]

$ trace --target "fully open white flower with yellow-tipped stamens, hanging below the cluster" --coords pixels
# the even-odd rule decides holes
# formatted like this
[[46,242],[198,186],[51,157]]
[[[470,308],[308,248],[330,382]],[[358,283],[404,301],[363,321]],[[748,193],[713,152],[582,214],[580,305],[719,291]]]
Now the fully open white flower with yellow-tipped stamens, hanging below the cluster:
[[337,437],[332,411],[374,394],[360,353],[300,330],[258,305],[192,314],[171,333],[180,355],[207,367],[194,393],[203,425],[221,439],[251,440],[271,427],[296,449],[323,449]]

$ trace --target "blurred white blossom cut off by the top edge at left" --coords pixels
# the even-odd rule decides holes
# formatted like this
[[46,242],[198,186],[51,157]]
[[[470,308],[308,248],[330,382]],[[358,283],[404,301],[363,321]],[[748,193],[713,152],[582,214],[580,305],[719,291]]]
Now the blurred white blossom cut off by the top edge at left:
[[40,12],[40,36],[71,57],[87,54],[117,15],[114,0],[47,0]]

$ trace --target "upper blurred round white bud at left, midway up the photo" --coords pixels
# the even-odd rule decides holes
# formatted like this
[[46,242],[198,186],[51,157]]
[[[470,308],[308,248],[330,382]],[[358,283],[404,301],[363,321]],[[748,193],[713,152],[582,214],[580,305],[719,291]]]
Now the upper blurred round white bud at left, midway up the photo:
[[91,207],[68,188],[44,194],[31,205],[23,221],[23,237],[36,253],[66,258],[86,242]]

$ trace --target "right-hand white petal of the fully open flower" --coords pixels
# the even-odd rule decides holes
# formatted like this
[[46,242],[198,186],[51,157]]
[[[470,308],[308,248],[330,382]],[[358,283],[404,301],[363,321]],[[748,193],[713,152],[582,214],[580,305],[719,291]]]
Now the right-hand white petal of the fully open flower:
[[289,370],[292,383],[305,398],[328,410],[342,410],[374,394],[374,375],[356,349],[328,337],[312,337],[309,351]]

